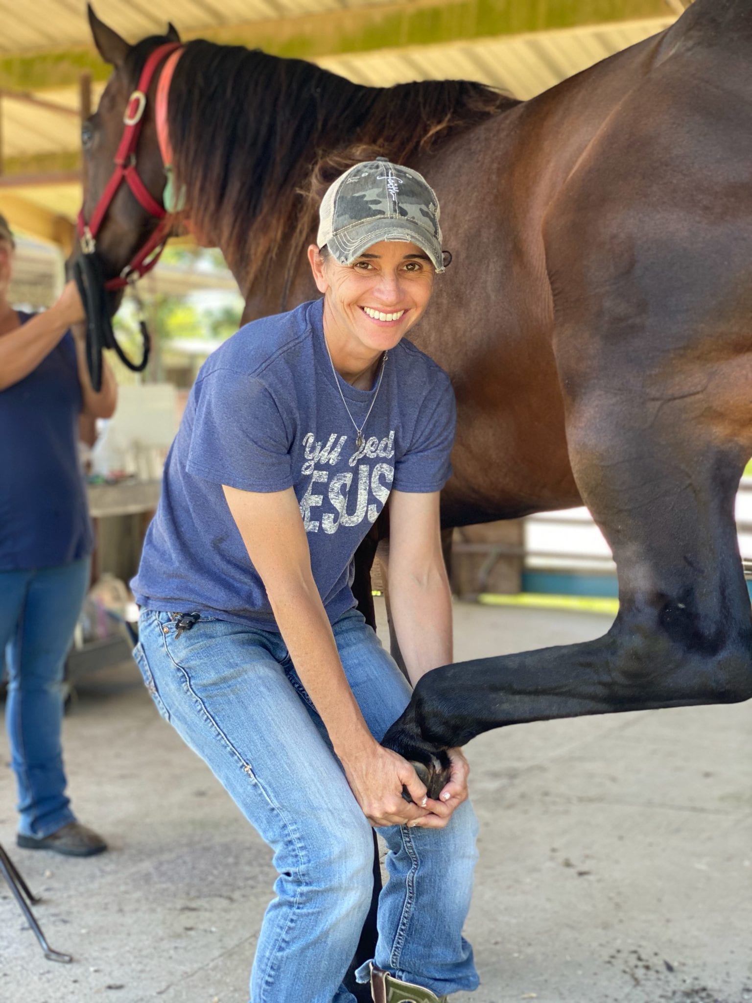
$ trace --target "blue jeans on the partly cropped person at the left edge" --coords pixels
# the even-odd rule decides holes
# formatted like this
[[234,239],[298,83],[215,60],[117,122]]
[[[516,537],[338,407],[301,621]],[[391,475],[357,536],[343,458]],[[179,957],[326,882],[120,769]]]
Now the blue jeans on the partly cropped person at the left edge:
[[18,830],[43,838],[73,821],[60,747],[65,656],[89,581],[89,559],[0,571],[5,720],[18,785]]

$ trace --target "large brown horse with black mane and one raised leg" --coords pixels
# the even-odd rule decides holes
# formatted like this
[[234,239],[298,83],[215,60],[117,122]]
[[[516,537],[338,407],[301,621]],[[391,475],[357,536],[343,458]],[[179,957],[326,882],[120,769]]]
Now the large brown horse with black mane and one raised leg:
[[[148,53],[93,15],[114,66],[84,125],[88,217]],[[432,762],[493,727],[752,696],[734,496],[752,453],[752,3],[696,0],[662,34],[525,102],[446,81],[361,87],[193,41],[168,126],[195,230],[246,319],[314,294],[312,162],[355,142],[436,189],[453,264],[414,340],[458,404],[446,526],[585,503],[621,608],[587,644],[436,669],[389,744]],[[153,89],[153,88],[152,88]],[[164,187],[150,98],[137,166]],[[115,275],[153,223],[121,189],[98,238]]]

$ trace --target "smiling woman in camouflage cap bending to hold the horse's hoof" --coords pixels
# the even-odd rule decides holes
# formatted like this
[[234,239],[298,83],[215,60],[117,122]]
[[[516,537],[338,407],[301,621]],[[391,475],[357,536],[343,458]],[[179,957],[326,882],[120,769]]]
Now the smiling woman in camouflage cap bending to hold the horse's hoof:
[[253,1003],[353,1000],[341,981],[373,887],[369,823],[383,826],[390,879],[358,978],[382,1000],[477,985],[461,937],[476,856],[467,764],[452,750],[431,800],[379,745],[410,688],[350,591],[389,496],[410,679],[451,661],[439,490],[454,400],[404,340],[443,271],[438,216],[420,175],[384,158],[329,189],[309,249],[323,301],[247,325],[204,365],[132,583],[134,655],[160,713],[275,851]]

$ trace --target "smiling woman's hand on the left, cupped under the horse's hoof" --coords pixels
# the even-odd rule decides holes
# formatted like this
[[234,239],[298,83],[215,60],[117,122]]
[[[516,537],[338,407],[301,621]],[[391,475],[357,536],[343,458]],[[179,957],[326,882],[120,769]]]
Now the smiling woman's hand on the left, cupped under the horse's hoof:
[[[375,741],[353,755],[342,756],[342,765],[358,804],[372,825],[446,824],[452,809],[426,796],[425,784],[410,763]],[[402,796],[407,787],[414,803]],[[447,784],[448,786],[448,784]]]

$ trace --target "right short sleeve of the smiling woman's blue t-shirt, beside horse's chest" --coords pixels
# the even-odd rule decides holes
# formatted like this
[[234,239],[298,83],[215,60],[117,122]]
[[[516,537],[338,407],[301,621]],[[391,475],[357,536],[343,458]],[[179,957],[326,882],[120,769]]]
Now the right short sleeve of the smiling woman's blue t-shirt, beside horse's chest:
[[454,443],[456,406],[448,378],[437,394],[429,394],[420,409],[410,447],[397,459],[392,487],[398,491],[428,493],[449,479]]

